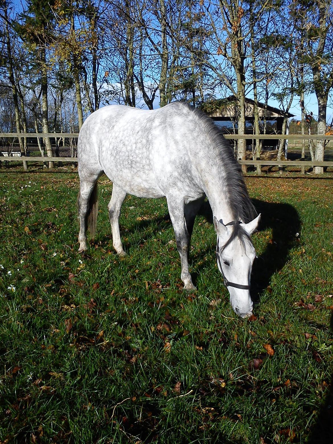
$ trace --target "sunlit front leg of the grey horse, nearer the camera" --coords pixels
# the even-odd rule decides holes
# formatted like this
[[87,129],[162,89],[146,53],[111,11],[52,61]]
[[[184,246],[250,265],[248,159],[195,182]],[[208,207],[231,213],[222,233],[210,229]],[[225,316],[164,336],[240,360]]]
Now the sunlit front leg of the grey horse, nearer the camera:
[[186,230],[185,217],[184,217],[184,202],[181,200],[175,200],[173,198],[166,198],[168,203],[168,209],[170,219],[174,227],[174,234],[176,237],[177,250],[180,256],[182,265],[181,278],[184,282],[185,290],[196,290],[193,285],[192,278],[189,272],[188,255],[190,249],[190,235]]

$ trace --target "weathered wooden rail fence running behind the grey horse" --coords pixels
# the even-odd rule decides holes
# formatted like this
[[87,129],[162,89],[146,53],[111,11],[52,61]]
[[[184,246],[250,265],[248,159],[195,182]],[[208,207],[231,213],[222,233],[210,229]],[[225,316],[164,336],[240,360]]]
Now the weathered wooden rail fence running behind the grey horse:
[[[0,133],[1,138],[77,138],[78,133]],[[291,139],[291,140],[333,140],[333,135],[322,136],[322,135],[300,135],[300,134],[226,134],[226,139]],[[0,161],[6,162],[77,162],[77,157],[41,157],[41,156],[14,156],[14,157],[0,157]],[[320,162],[312,160],[238,160],[241,165],[266,165],[266,166],[333,166],[333,162]]]

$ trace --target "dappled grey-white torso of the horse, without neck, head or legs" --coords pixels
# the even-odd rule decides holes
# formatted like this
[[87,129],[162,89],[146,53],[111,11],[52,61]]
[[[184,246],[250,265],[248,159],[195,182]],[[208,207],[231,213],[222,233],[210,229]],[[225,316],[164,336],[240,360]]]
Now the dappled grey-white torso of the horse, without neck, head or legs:
[[94,165],[129,194],[159,197],[174,187],[190,198],[200,197],[193,168],[200,131],[194,120],[183,103],[153,111],[122,105],[100,108],[81,128],[79,171],[80,163],[93,158]]

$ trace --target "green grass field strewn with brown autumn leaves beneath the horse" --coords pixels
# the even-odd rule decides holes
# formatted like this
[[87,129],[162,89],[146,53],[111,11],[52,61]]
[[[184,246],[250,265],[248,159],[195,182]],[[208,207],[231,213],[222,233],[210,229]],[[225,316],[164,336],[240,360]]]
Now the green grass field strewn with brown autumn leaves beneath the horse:
[[164,199],[128,197],[77,253],[75,173],[0,173],[1,443],[331,443],[331,178],[246,179],[255,316],[231,309],[208,216],[190,271]]

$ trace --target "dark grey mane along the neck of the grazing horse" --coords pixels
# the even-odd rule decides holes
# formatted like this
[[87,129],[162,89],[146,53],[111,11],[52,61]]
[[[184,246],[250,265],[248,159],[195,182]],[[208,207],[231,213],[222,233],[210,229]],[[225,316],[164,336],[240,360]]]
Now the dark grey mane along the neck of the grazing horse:
[[[196,119],[203,123],[206,128],[206,134],[217,148],[217,156],[220,166],[223,170],[224,185],[228,195],[228,201],[235,220],[242,220],[242,222],[250,222],[257,217],[257,210],[249,197],[246,189],[242,168],[234,157],[230,143],[225,139],[222,131],[215,125],[213,120],[204,114],[198,108],[193,108],[187,103],[182,103],[182,106],[194,113]],[[229,221],[228,221],[229,222]],[[239,230],[233,230],[235,234]]]

